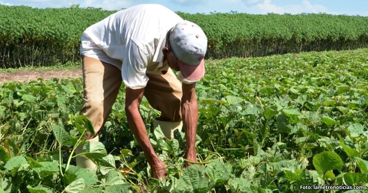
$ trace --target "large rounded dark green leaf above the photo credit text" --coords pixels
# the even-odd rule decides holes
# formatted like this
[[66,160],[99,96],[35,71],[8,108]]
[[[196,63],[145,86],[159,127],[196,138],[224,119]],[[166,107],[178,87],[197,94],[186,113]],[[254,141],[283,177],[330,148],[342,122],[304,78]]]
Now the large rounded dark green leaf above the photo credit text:
[[313,157],[313,165],[316,168],[319,175],[325,174],[327,171],[332,169],[337,169],[341,171],[344,162],[335,152],[324,151],[322,153],[316,154]]

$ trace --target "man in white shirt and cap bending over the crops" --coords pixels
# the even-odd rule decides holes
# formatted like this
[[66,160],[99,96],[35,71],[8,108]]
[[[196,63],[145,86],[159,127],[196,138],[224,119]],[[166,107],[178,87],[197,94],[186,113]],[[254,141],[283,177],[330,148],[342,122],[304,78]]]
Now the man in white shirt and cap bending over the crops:
[[[207,38],[198,25],[158,4],[130,7],[88,27],[82,34],[84,103],[80,113],[91,119],[96,136],[87,133],[86,139],[98,141],[124,82],[128,124],[151,165],[151,175],[164,177],[166,165],[153,150],[141,118],[143,96],[161,112],[156,125],[169,131],[184,128],[186,159],[196,162],[195,82],[205,74],[206,49]],[[171,69],[180,71],[177,77]],[[81,151],[79,146],[77,154]],[[77,166],[95,167],[82,156],[77,157]]]

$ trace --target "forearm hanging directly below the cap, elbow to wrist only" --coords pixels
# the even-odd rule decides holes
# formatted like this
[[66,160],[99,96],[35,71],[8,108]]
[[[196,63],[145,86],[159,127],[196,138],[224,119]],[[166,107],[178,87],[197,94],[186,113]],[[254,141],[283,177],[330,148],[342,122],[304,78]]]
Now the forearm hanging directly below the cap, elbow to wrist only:
[[198,104],[197,99],[182,102],[183,125],[187,145],[187,157],[196,156],[195,136],[197,133]]

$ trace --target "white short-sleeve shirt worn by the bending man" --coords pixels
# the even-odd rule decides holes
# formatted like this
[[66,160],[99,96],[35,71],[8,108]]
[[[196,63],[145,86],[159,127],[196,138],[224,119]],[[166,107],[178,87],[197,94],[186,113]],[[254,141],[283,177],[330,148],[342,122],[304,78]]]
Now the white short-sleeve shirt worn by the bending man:
[[[141,4],[118,11],[82,34],[81,53],[121,69],[125,86],[146,86],[146,73],[163,74],[166,33],[183,19],[159,4]],[[152,68],[153,67],[153,68]],[[180,81],[186,80],[178,75]]]

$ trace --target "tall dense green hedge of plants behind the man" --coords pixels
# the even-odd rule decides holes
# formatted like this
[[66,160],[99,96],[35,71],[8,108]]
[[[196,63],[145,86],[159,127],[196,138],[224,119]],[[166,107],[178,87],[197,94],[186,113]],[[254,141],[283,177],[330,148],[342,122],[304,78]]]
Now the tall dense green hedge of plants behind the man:
[[[81,33],[114,12],[0,5],[0,67],[79,61]],[[209,43],[207,58],[368,47],[368,17],[177,13],[202,27]]]

